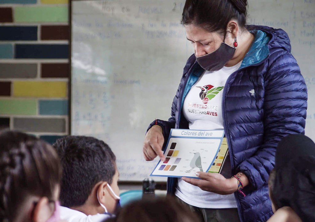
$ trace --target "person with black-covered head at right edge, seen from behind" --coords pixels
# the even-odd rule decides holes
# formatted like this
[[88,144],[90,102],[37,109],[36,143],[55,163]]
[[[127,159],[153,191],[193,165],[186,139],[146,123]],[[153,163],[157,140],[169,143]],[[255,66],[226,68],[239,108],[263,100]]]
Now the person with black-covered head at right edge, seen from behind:
[[274,215],[268,222],[315,221],[315,144],[305,135],[284,137],[269,175]]

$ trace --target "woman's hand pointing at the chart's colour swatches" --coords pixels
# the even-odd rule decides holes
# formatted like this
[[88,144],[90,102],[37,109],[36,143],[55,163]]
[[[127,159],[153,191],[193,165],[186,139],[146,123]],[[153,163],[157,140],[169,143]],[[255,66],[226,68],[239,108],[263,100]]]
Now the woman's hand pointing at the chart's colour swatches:
[[165,156],[162,151],[164,137],[161,127],[154,125],[146,133],[143,143],[143,156],[146,161],[151,161],[157,156],[164,161]]

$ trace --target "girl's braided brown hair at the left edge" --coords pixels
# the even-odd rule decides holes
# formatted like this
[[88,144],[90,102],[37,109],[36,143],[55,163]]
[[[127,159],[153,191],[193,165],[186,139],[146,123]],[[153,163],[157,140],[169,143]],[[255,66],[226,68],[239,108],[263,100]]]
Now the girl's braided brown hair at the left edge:
[[30,196],[53,200],[60,183],[54,148],[21,132],[0,132],[0,221],[14,221]]

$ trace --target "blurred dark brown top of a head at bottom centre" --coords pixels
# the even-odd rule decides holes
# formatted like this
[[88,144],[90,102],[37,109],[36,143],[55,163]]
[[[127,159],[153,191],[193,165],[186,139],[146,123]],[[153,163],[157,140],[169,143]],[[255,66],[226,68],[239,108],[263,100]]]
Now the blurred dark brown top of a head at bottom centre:
[[[116,218],[110,222],[199,222],[198,217],[189,208],[173,197],[152,198],[135,201],[121,208]],[[107,222],[107,220],[106,220]]]

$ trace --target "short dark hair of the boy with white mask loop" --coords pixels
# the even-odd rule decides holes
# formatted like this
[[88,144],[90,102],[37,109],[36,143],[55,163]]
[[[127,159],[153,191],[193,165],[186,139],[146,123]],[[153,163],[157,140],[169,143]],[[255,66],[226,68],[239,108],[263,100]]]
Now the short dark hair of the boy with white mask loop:
[[96,183],[112,183],[116,157],[103,141],[87,136],[66,136],[58,139],[53,146],[63,169],[60,187],[62,206],[81,206]]

